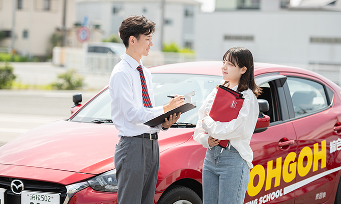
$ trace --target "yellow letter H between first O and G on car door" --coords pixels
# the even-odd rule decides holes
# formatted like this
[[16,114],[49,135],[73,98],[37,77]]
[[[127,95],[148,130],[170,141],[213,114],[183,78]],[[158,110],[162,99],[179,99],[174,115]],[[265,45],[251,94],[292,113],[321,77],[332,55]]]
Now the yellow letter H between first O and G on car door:
[[273,162],[272,160],[268,162],[267,173],[266,173],[266,185],[265,190],[269,190],[271,188],[272,178],[275,178],[275,186],[279,186],[280,184],[280,174],[282,170],[282,158],[279,157],[276,159],[276,168],[272,168]]

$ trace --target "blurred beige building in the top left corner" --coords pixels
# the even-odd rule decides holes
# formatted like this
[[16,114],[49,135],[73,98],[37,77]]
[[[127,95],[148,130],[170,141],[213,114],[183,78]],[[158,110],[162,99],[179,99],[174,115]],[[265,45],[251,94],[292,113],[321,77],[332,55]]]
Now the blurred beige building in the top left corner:
[[[63,25],[64,1],[0,0],[0,31],[5,33],[0,47],[11,47],[13,1],[16,1],[15,50],[29,56],[46,56],[51,35]],[[74,0],[67,1],[67,30],[75,22],[74,6]]]

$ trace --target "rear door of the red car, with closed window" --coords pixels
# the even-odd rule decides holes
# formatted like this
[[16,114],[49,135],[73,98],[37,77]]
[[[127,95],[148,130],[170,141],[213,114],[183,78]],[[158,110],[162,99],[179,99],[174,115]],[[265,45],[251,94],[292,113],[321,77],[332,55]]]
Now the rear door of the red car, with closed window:
[[339,136],[333,127],[340,108],[332,106],[333,91],[317,78],[287,73],[287,84],[298,140],[295,203],[323,203],[338,184],[335,178],[340,168],[335,158]]

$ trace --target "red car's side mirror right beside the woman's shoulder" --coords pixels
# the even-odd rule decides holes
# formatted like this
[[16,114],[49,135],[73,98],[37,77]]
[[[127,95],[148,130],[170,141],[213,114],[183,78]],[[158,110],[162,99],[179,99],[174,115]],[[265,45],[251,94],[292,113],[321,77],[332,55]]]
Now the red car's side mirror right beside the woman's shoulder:
[[265,115],[263,112],[269,111],[269,103],[267,100],[258,99],[259,105],[259,115],[257,118],[257,123],[253,133],[261,133],[266,131],[270,125],[270,117]]

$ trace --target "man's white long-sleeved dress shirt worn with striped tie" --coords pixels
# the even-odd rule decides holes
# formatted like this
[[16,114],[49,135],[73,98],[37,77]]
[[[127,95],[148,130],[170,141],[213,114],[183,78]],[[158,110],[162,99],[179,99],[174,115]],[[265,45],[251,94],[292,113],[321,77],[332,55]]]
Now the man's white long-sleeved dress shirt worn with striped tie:
[[[141,81],[137,67],[141,65],[146,79],[153,108],[145,108],[141,94]],[[152,74],[126,53],[112,70],[109,82],[111,119],[118,129],[119,137],[132,137],[143,133],[160,132],[161,124],[150,127],[143,124],[163,114],[163,106],[155,107]]]

